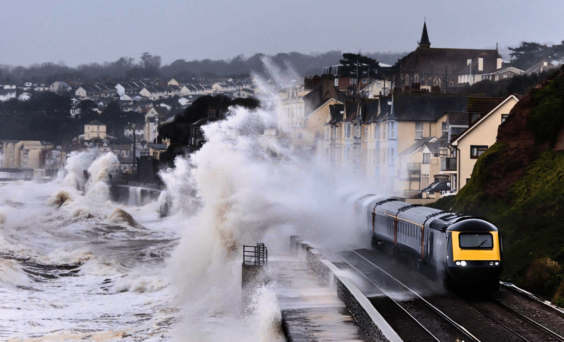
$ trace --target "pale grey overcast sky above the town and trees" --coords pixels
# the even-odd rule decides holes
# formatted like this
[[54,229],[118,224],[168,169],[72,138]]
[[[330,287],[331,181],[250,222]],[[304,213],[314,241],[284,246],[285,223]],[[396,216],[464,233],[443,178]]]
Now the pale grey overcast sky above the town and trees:
[[2,0],[0,64],[69,66],[227,59],[341,50],[415,50],[426,17],[431,47],[487,48],[564,40],[564,5],[496,0],[41,1]]

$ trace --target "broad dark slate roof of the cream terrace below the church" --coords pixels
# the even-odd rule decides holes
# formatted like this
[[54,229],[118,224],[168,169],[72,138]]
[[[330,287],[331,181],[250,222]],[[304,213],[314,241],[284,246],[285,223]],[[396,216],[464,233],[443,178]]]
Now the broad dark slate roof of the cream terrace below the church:
[[467,106],[468,95],[434,93],[394,94],[393,110],[390,116],[384,118],[384,120],[435,121],[445,112],[465,112]]

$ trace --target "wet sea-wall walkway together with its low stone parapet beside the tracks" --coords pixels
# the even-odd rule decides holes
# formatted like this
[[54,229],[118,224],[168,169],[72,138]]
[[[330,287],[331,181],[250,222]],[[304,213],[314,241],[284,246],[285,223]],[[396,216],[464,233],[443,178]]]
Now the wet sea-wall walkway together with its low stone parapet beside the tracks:
[[317,249],[292,236],[290,251],[272,252],[268,268],[288,341],[402,341],[367,297]]

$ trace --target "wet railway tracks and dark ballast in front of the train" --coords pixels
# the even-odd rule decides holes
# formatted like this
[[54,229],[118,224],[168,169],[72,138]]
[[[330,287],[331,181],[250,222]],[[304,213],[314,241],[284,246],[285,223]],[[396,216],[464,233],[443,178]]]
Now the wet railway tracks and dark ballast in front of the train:
[[[358,274],[362,281],[356,281],[364,283],[361,286],[368,288],[367,291],[371,291],[369,286],[372,286],[385,296],[385,299],[378,295],[369,297],[379,312],[390,310],[390,302],[393,302],[396,312],[400,308],[411,318],[412,326],[426,332],[425,338],[417,341],[564,342],[558,332],[495,299],[465,300],[438,288],[438,284],[421,274],[398,272],[398,266],[391,262],[377,262],[389,256],[375,256],[372,251],[363,249],[343,252],[342,256],[346,262],[336,263],[340,268]],[[417,279],[416,287],[410,283],[413,279]],[[409,341],[411,336],[402,336],[402,339]]]

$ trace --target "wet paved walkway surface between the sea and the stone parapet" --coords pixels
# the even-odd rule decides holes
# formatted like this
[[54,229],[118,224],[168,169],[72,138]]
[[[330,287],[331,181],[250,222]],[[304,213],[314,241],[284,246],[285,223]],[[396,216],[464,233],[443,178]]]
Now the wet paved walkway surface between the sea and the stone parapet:
[[268,251],[268,273],[274,280],[288,341],[369,341],[336,288],[320,280],[305,258],[292,251]]

